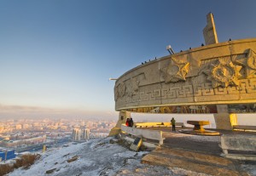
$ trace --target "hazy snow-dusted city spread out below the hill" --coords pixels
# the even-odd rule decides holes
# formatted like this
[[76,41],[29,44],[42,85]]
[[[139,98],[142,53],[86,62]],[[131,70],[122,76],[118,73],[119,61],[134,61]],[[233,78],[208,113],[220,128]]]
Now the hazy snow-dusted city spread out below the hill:
[[115,121],[106,119],[6,119],[0,121],[0,148],[17,152],[41,150],[44,144],[51,146],[104,138],[114,126]]

